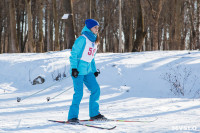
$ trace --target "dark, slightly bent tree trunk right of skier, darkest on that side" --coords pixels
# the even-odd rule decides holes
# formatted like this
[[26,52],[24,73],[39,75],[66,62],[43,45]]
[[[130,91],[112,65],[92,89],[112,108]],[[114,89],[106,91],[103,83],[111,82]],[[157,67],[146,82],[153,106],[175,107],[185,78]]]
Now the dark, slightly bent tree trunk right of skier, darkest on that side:
[[134,42],[134,46],[132,52],[140,52],[142,50],[142,45],[146,36],[146,32],[144,31],[144,17],[142,12],[141,1],[137,0],[137,29],[136,29],[136,40]]

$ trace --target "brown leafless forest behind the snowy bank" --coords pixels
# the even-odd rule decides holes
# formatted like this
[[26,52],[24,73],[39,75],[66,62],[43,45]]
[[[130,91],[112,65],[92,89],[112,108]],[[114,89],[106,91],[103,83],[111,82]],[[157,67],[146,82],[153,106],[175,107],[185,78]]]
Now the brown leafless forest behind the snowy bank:
[[200,0],[0,0],[0,53],[71,49],[89,18],[101,53],[200,49]]

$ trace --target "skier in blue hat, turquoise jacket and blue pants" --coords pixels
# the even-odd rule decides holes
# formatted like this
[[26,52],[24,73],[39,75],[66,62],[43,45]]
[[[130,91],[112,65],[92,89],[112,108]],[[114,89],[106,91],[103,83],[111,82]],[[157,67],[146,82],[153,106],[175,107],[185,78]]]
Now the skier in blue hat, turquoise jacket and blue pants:
[[97,45],[100,43],[98,34],[99,23],[94,19],[85,20],[81,31],[71,51],[70,65],[74,85],[74,95],[68,113],[68,122],[78,123],[79,104],[83,97],[83,83],[91,92],[89,100],[89,116],[92,120],[106,120],[99,112],[100,87],[96,81],[97,72],[94,57]]

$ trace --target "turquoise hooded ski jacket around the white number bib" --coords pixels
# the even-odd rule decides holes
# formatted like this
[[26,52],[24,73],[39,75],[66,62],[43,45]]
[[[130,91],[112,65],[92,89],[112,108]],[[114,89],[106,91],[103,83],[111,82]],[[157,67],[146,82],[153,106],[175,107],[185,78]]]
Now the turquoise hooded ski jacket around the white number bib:
[[[82,29],[81,34],[84,34],[85,31],[92,33],[92,31],[89,30],[86,26]],[[92,34],[96,37],[94,33]],[[87,36],[87,38],[90,39],[90,36]],[[71,56],[69,58],[70,73],[72,73],[72,69],[77,69],[79,75],[87,75],[91,72],[94,73],[97,71],[94,58],[92,59],[91,62],[86,62],[81,60],[85,45],[86,45],[86,38],[84,36],[79,36],[72,47]]]

